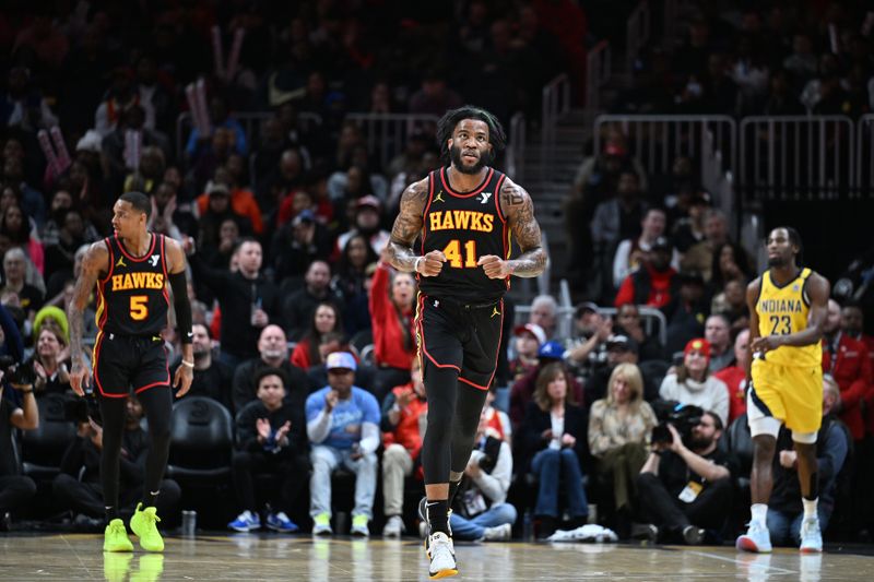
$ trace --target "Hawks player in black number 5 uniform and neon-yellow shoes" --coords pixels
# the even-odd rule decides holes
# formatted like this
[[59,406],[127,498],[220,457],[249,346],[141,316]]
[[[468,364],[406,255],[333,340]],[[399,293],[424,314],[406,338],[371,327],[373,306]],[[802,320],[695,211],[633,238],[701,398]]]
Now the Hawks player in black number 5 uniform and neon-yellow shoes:
[[188,302],[185,253],[178,242],[146,230],[151,202],[145,194],[127,192],[115,203],[115,236],[95,242],[82,262],[70,320],[70,383],[80,396],[90,384],[82,353],[82,312],[91,294],[97,290],[97,340],[94,344],[94,384],[103,417],[101,479],[106,504],[104,551],[130,551],[125,523],[118,515],[118,472],[125,408],[131,390],[137,393],[149,419],[149,455],[145,462],[143,500],[130,521],[140,546],[162,551],[164,541],[155,522],[155,498],[164,476],[169,452],[169,423],[173,409],[170,375],[162,330],[167,325],[169,295],[182,342],[182,365],[173,385],[177,396],[191,388],[194,355],[191,346],[191,306]]

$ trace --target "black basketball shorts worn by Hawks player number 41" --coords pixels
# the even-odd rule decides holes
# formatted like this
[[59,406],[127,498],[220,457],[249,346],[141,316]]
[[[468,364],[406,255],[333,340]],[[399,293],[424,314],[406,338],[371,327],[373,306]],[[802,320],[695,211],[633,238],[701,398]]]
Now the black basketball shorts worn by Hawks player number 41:
[[482,305],[418,294],[416,342],[425,360],[454,368],[459,381],[488,390],[495,377],[504,328],[504,299]]

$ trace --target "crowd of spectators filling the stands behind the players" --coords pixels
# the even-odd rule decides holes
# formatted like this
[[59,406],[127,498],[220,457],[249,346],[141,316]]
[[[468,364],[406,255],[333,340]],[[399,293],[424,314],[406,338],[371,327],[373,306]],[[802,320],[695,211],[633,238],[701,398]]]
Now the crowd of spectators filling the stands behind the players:
[[[172,448],[179,466],[162,486],[162,516],[173,524],[181,509],[209,503],[200,507],[217,515],[212,526],[240,532],[345,533],[341,513],[351,514],[352,534],[417,530],[427,401],[415,358],[416,281],[381,253],[400,192],[440,161],[427,123],[380,159],[346,114],[440,115],[464,102],[504,120],[538,110],[532,96],[556,69],[580,74],[586,31],[575,36],[570,26],[584,28],[586,15],[569,0],[474,0],[448,14],[428,2],[299,4],[82,2],[0,14],[0,324],[2,355],[19,364],[2,370],[0,527],[10,515],[82,528],[99,520],[102,433],[93,399],[70,389],[64,308],[83,248],[110,235],[117,195],[139,190],[153,201],[150,228],[182,240],[190,264],[194,381],[174,427],[196,408],[198,421],[226,423],[233,433],[226,450],[209,451],[218,458],[212,496]],[[799,58],[778,50],[792,34],[790,13],[745,13],[732,67],[725,57],[735,45],[711,40],[725,36],[712,33],[717,21],[695,20],[682,62],[668,75],[653,55],[638,72],[649,84],[628,103],[740,112],[773,102],[770,79],[772,87],[820,81],[804,90],[816,112],[835,95],[857,104],[865,37],[849,36],[843,48],[838,35],[840,58],[820,74],[810,54],[823,31],[795,35]],[[835,19],[845,22],[840,12]],[[245,31],[232,78],[213,71],[213,25],[226,45]],[[757,60],[783,54],[799,76]],[[839,88],[842,74],[855,80],[852,91]],[[185,87],[201,76],[210,135],[176,127]],[[246,127],[237,117],[247,110],[270,115]],[[58,122],[70,151],[61,169],[46,159],[58,144],[39,133]],[[624,538],[732,537],[732,500],[745,507],[752,456],[744,328],[755,265],[694,178],[698,162],[677,157],[669,176],[647,176],[612,129],[603,152],[580,166],[568,216],[591,229],[575,218],[568,242],[590,282],[575,292],[592,301],[577,307],[567,336],[551,296],[536,297],[520,325],[507,318],[453,508],[459,539],[508,539],[524,532],[527,516],[539,537],[595,519]],[[83,316],[93,336],[93,309]],[[871,532],[874,340],[864,316],[852,304],[830,307],[818,446],[820,511],[834,511],[845,531]],[[179,366],[173,322],[164,340]],[[182,408],[185,401],[196,405]],[[701,408],[694,426],[653,438],[681,405]],[[128,414],[121,497],[135,500],[147,424],[135,397]],[[44,447],[50,440],[54,449]],[[786,453],[779,463],[791,476]],[[791,478],[777,483],[773,527],[789,539],[799,495]]]

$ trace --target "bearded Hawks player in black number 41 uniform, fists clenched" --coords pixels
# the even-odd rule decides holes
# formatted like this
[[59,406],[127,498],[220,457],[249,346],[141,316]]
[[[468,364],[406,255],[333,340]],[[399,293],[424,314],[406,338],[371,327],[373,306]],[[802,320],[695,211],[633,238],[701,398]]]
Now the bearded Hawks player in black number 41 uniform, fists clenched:
[[[464,106],[439,121],[448,167],[410,185],[388,254],[415,272],[416,338],[428,397],[422,449],[432,579],[458,573],[449,508],[495,376],[510,275],[543,272],[546,252],[528,192],[488,166],[506,138],[488,111]],[[511,237],[522,253],[510,259]],[[421,239],[420,252],[413,249]]]

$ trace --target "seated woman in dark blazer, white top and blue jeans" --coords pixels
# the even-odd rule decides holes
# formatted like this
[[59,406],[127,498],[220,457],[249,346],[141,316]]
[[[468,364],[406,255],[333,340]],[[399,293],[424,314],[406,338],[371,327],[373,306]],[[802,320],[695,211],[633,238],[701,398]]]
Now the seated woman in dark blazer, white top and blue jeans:
[[572,391],[568,391],[562,363],[548,364],[538,375],[534,399],[528,403],[519,439],[539,483],[534,506],[540,524],[538,536],[546,537],[555,531],[560,515],[559,494],[567,498],[571,525],[584,524],[589,514],[582,487],[586,413],[576,405]]

